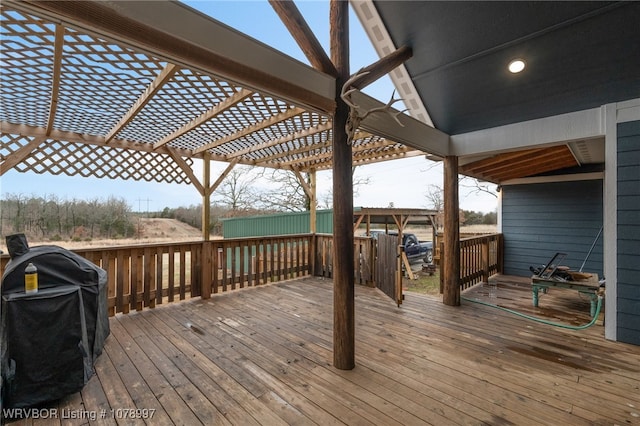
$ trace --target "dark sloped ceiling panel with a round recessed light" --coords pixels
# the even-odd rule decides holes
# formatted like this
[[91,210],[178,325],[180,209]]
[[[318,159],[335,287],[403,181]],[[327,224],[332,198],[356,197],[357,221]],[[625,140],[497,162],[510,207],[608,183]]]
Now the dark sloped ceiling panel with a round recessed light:
[[[640,96],[640,2],[375,2],[448,134]],[[506,66],[521,57],[527,68]]]

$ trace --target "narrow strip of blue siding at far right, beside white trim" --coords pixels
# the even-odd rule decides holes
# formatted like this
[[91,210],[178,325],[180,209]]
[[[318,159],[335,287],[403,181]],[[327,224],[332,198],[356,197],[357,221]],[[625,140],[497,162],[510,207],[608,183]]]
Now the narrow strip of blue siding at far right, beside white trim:
[[640,345],[640,121],[618,124],[617,186],[617,339]]

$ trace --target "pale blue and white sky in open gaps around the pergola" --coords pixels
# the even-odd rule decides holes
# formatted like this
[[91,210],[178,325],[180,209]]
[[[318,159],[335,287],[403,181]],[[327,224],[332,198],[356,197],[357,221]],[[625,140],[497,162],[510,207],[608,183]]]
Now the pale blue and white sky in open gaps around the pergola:
[[[289,34],[267,0],[185,1],[187,5],[205,13],[236,30],[245,33],[289,56],[308,64],[308,60]],[[297,0],[296,5],[325,51],[329,52],[329,2],[326,0]],[[378,60],[378,56],[350,9],[350,67],[352,73]],[[367,86],[363,92],[387,102],[393,93],[391,79],[383,77]],[[398,106],[398,104],[396,104]],[[400,108],[400,107],[399,107]],[[427,103],[428,108],[428,103]],[[213,162],[212,181],[226,168],[225,163]],[[200,176],[196,170],[196,176]],[[354,194],[355,207],[432,208],[428,193],[433,185],[442,187],[442,165],[424,156],[386,161],[356,168],[355,178],[368,179],[368,185],[358,187]],[[331,191],[331,171],[317,174],[317,196],[322,202]],[[8,195],[37,197],[55,196],[58,199],[123,198],[133,211],[160,211],[201,204],[202,199],[192,185],[161,184],[114,179],[69,177],[65,175],[18,173],[7,171],[0,178],[0,197]],[[215,193],[213,195],[215,200]],[[497,198],[460,188],[460,208],[493,212]],[[322,206],[321,206],[322,207]]]

